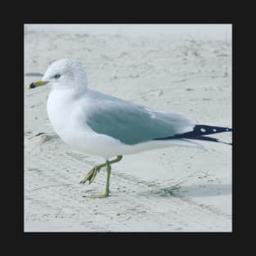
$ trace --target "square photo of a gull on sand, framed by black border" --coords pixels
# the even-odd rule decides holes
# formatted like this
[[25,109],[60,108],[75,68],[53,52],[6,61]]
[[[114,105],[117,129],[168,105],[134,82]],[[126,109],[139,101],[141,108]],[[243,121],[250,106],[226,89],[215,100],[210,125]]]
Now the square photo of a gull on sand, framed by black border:
[[231,32],[25,24],[25,232],[231,232]]

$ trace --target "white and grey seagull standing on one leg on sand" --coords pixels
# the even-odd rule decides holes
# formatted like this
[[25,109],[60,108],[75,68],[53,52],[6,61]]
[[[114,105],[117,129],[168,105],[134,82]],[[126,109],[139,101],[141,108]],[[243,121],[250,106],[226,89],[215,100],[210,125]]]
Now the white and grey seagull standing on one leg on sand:
[[54,131],[74,150],[105,159],[81,181],[91,184],[101,168],[106,167],[105,192],[90,195],[94,198],[110,195],[111,164],[119,162],[123,155],[170,146],[200,146],[194,140],[231,145],[205,136],[231,132],[231,128],[195,124],[182,114],[152,110],[90,90],[83,66],[74,60],[54,61],[43,79],[31,83],[29,88],[46,84],[52,87],[47,115]]

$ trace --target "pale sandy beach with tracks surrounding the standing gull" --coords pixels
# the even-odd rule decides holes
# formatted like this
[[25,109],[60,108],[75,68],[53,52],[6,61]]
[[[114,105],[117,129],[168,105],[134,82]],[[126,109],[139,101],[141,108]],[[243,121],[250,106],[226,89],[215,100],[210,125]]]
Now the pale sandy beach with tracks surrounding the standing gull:
[[[25,231],[231,231],[231,150],[171,147],[124,155],[79,184],[103,159],[70,149],[47,117],[49,87],[29,90],[53,61],[72,58],[88,87],[196,124],[232,127],[231,40],[193,34],[130,36],[25,25]],[[41,135],[35,136],[40,132]],[[214,137],[231,142],[231,132]]]

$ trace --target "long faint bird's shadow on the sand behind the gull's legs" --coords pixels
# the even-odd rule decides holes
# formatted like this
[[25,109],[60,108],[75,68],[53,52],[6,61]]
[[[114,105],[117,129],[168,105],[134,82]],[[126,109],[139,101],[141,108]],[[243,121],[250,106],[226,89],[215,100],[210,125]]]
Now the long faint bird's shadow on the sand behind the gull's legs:
[[189,186],[174,185],[162,188],[155,188],[150,191],[143,191],[140,195],[153,196],[177,196],[188,197],[230,195],[232,191],[231,184],[193,184]]

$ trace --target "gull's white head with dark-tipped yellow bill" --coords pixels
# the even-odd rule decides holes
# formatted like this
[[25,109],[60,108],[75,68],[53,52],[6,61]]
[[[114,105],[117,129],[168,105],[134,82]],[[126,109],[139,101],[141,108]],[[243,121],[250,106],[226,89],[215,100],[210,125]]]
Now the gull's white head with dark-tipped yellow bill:
[[85,90],[87,88],[86,73],[79,62],[61,59],[53,62],[47,68],[43,79],[31,83],[29,88],[37,88],[45,84],[51,85],[52,90]]

